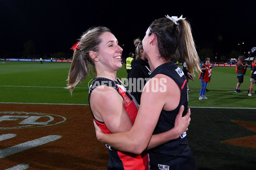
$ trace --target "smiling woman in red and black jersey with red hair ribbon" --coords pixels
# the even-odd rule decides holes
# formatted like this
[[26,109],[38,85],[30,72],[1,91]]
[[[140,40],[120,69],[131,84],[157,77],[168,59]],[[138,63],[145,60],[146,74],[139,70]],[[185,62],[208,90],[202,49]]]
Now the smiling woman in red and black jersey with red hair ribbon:
[[[122,67],[122,48],[118,40],[106,27],[87,30],[72,49],[73,60],[68,74],[68,85],[72,93],[75,86],[84,81],[89,74],[89,64],[96,71],[89,88],[89,105],[93,120],[104,133],[118,133],[130,130],[138,112],[138,104],[131,93],[116,77]],[[182,113],[182,109],[180,113]],[[180,116],[179,126],[184,129],[187,119]],[[160,133],[152,136],[148,146],[156,147],[172,136]],[[173,138],[172,138],[173,139]],[[148,170],[147,153],[127,153],[106,145],[110,160],[108,170]]]

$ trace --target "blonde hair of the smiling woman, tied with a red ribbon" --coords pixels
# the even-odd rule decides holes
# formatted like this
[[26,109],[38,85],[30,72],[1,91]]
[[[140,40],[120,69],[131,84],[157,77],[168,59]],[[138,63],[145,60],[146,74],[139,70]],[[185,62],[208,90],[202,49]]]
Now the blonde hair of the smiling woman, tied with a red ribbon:
[[79,82],[83,82],[89,74],[89,65],[93,65],[94,62],[90,58],[90,51],[99,51],[99,44],[102,42],[101,35],[105,32],[111,32],[106,27],[93,27],[89,28],[79,39],[79,49],[74,50],[72,63],[67,78],[67,89],[70,89],[72,94],[75,86]]

